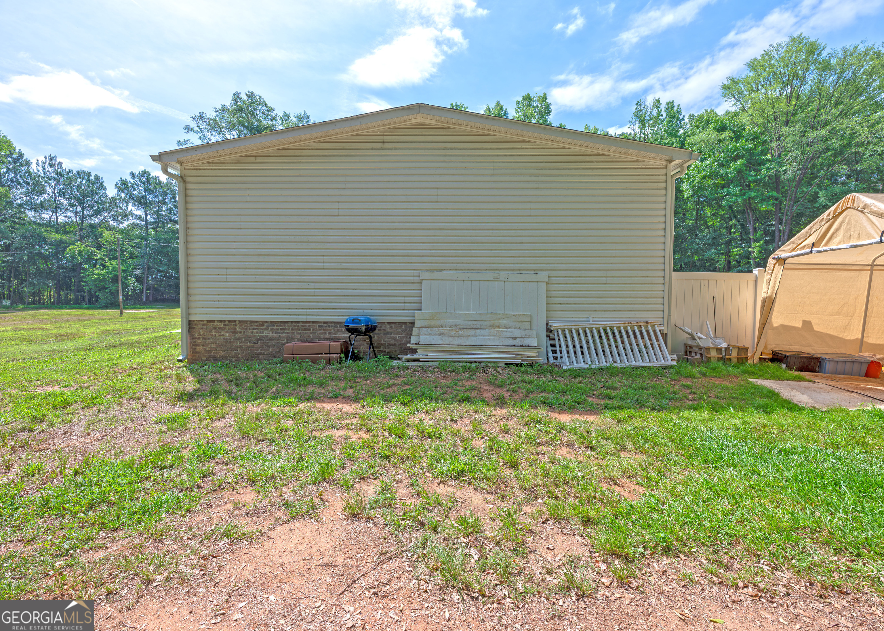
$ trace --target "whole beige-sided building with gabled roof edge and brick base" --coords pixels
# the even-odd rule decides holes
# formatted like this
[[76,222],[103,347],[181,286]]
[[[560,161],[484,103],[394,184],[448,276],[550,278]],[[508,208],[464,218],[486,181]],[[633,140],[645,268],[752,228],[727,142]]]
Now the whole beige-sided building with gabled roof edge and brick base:
[[698,156],[419,103],[151,157],[179,182],[182,355],[216,361],[349,315],[406,353],[422,272],[537,275],[548,319],[665,321]]

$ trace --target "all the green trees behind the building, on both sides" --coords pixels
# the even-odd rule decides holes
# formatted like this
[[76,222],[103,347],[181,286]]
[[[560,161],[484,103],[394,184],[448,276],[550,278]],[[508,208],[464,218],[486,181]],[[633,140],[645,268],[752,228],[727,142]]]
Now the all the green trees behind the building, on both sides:
[[[752,59],[720,94],[721,111],[687,116],[674,101],[641,99],[627,131],[614,134],[701,155],[675,188],[675,270],[763,266],[845,194],[884,192],[879,46],[827,50],[796,35]],[[483,113],[510,116],[500,101]],[[513,118],[552,125],[552,104],[545,93],[528,93]],[[278,113],[254,92],[235,92],[191,120],[184,131],[200,142],[314,122],[306,111]],[[4,303],[115,305],[118,243],[126,300],[178,300],[177,209],[174,182],[147,170],[130,172],[110,192],[100,176],[67,169],[56,156],[32,163],[0,133]]]

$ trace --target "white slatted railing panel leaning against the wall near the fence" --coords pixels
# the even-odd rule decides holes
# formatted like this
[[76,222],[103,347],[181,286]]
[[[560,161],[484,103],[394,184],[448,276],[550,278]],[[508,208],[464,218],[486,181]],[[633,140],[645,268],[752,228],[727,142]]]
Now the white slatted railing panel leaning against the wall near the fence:
[[550,322],[548,359],[562,368],[672,366],[659,322]]

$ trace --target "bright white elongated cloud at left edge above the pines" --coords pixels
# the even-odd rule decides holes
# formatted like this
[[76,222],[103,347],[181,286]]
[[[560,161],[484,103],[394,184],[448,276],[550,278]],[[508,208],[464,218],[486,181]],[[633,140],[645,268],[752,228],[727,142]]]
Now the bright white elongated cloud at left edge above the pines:
[[[95,110],[111,107],[128,112],[138,108],[109,89],[96,86],[78,72],[53,70],[46,66],[44,74],[19,74],[8,83],[0,83],[0,102],[23,101],[48,107]],[[126,95],[125,92],[121,93]]]

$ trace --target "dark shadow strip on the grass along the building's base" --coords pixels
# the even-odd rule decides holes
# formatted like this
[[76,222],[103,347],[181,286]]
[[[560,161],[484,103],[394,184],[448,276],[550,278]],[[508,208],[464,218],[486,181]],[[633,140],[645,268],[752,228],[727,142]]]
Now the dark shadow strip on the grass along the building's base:
[[563,370],[549,364],[491,366],[441,362],[438,367],[403,366],[381,357],[325,366],[309,361],[194,363],[187,372],[197,382],[181,389],[181,399],[225,397],[250,401],[365,400],[546,407],[601,412],[620,409],[728,407],[758,411],[794,409],[794,404],[749,378],[804,380],[779,364],[680,362],[672,368]]

